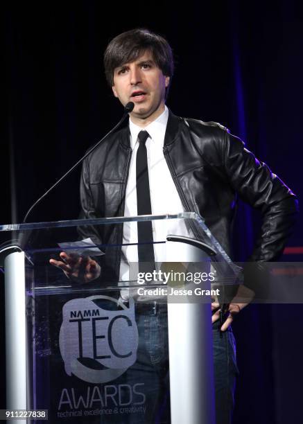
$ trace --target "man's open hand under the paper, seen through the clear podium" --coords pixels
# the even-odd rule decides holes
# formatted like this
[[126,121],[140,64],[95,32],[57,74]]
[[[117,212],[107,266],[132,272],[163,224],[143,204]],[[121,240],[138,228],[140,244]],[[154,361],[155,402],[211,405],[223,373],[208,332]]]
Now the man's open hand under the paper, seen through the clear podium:
[[67,254],[62,251],[60,258],[62,260],[50,259],[49,263],[60,268],[69,279],[78,283],[88,283],[101,274],[100,265],[89,256]]

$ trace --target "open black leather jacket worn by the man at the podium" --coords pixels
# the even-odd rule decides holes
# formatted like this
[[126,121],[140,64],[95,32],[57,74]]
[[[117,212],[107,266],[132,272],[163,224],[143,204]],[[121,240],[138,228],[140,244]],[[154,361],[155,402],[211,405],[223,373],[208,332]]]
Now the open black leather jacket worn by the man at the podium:
[[[115,132],[85,159],[80,183],[85,218],[123,216],[132,150],[128,125]],[[244,143],[218,123],[180,118],[169,112],[164,156],[185,211],[194,211],[231,254],[230,234],[236,197],[259,209],[261,236],[249,260],[275,260],[283,251],[297,213],[291,190]],[[199,238],[199,230],[193,228]],[[104,244],[122,242],[121,225],[102,231],[86,227],[82,236]],[[119,275],[120,249],[107,249],[107,278]],[[110,274],[111,276],[110,276]]]

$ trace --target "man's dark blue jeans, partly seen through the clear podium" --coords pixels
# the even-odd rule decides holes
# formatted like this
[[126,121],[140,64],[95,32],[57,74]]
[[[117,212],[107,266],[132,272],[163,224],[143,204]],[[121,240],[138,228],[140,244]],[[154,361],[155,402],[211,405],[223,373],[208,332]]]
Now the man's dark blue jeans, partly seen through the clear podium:
[[[137,361],[126,371],[124,378],[131,387],[141,382],[146,409],[123,417],[121,423],[169,424],[167,310],[161,308],[156,315],[139,313],[136,321],[139,330]],[[213,341],[216,424],[230,424],[234,407],[234,385],[239,373],[232,329],[222,333],[220,337],[218,323],[213,324]]]

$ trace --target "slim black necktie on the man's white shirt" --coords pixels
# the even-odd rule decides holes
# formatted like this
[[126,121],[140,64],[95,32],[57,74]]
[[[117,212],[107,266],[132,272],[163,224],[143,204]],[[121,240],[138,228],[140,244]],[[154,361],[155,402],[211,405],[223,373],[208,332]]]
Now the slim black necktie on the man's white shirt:
[[[136,177],[137,177],[137,211],[138,215],[150,215],[150,187],[148,179],[148,164],[146,140],[149,134],[147,131],[140,131],[138,134],[139,148],[136,157]],[[138,259],[140,271],[153,272],[155,270],[155,254],[153,248],[153,227],[151,221],[138,222]],[[148,263],[148,264],[147,264]]]

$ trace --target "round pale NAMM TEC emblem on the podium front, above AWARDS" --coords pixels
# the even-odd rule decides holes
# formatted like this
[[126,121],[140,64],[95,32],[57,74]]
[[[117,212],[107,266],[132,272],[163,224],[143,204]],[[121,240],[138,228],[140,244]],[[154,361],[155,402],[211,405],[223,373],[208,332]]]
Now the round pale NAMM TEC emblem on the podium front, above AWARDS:
[[[112,303],[110,310],[101,306]],[[113,304],[114,303],[114,304]],[[135,305],[117,308],[116,299],[91,296],[64,304],[59,346],[65,371],[90,383],[121,376],[137,360]],[[114,309],[114,310],[112,310]]]

